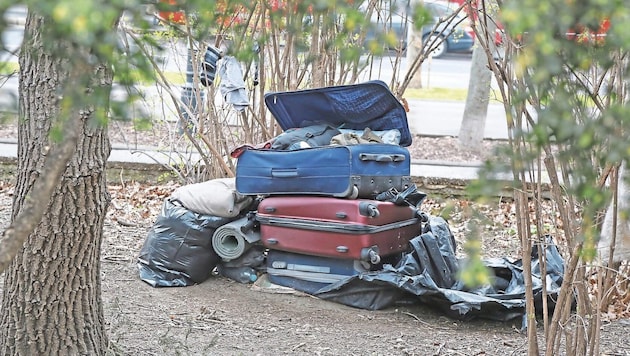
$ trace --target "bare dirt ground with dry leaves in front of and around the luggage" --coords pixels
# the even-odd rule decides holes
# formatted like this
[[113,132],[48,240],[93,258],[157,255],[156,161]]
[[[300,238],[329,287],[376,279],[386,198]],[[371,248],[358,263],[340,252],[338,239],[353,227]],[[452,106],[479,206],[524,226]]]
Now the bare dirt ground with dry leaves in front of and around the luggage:
[[[414,147],[414,158],[481,158],[447,150],[446,147],[456,147],[452,138],[435,140],[438,139],[418,140],[424,145]],[[431,155],[431,147],[435,146],[441,149]],[[418,157],[418,152],[427,156]],[[457,321],[423,304],[368,311],[285,290],[272,292],[258,284],[243,285],[219,276],[191,287],[153,288],[139,279],[137,256],[163,199],[175,187],[176,184],[147,186],[135,182],[110,186],[112,204],[101,257],[102,298],[112,346],[121,354],[526,354],[527,339],[520,331],[520,320]],[[0,210],[0,229],[8,225],[11,196],[11,182],[0,182],[0,204],[4,207]],[[449,223],[460,250],[466,222],[461,204],[432,197],[424,205],[429,213],[450,207]],[[518,243],[509,233],[515,226],[513,207],[500,203],[488,209],[493,211],[493,219],[484,228],[484,254],[518,256]],[[630,320],[605,322],[601,330],[601,355],[630,355]],[[538,332],[543,342],[542,327]]]

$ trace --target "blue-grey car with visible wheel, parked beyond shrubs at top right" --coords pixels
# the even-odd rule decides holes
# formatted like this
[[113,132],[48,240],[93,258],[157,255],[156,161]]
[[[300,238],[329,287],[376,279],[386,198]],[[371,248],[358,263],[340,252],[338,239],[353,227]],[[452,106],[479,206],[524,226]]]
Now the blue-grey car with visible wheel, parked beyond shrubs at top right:
[[[372,13],[371,22],[373,29],[366,34],[366,41],[376,39],[378,29],[392,32],[396,38],[399,49],[407,47],[407,32],[413,28],[413,19],[410,16],[410,1],[383,1],[383,6],[377,6]],[[393,4],[390,8],[389,4]],[[367,9],[367,3],[361,5]],[[475,43],[474,32],[469,26],[467,16],[460,12],[452,21],[448,18],[457,9],[456,4],[439,0],[425,0],[424,7],[431,14],[432,20],[422,27],[422,41],[433,43],[433,57],[441,57],[447,52],[471,52]],[[437,26],[436,26],[437,24]]]

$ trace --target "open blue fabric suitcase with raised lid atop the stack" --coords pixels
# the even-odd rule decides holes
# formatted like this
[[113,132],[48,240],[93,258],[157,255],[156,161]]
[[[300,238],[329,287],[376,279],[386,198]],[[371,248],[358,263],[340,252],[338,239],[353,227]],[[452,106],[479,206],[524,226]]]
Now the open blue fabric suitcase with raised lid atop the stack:
[[238,157],[243,195],[325,195],[371,198],[411,184],[412,138],[402,104],[382,81],[265,95],[283,130],[325,120],[337,128],[396,129],[400,144],[320,146],[291,151],[249,149]]

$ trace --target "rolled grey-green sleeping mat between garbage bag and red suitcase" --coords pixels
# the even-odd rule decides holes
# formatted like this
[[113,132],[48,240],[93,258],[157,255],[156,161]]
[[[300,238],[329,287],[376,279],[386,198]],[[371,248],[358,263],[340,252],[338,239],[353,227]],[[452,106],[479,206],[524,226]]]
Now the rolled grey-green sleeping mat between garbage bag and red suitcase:
[[260,233],[251,229],[251,220],[247,217],[220,226],[212,235],[212,247],[225,261],[241,257],[258,241]]

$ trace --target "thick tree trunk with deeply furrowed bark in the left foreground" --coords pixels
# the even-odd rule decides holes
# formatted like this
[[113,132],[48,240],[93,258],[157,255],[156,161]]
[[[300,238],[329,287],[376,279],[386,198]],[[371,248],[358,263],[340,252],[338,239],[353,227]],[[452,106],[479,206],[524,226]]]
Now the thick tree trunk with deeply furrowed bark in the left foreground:
[[[48,20],[29,13],[20,53],[18,176],[12,223],[30,199],[38,198],[32,195],[37,180],[50,178],[40,175],[50,164],[46,158],[50,150],[63,145],[51,139],[51,132],[65,121],[63,126],[73,126],[79,135],[50,199],[37,202],[46,206],[43,218],[6,271],[0,354],[99,355],[108,347],[99,256],[109,203],[105,163],[110,145],[106,127],[93,120],[95,107],[86,103],[92,95],[101,95],[103,105],[107,103],[111,71],[86,64],[87,49],[62,40],[55,41],[54,47],[63,48],[63,55],[50,52],[49,26]],[[86,61],[77,65],[77,58]],[[91,86],[77,79],[86,75],[92,78]],[[78,92],[82,93],[80,103],[77,97],[70,99]],[[72,109],[65,105],[69,100]],[[72,136],[61,135],[61,140]]]

